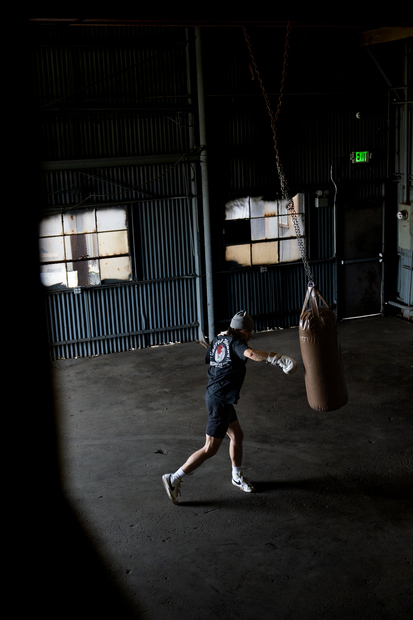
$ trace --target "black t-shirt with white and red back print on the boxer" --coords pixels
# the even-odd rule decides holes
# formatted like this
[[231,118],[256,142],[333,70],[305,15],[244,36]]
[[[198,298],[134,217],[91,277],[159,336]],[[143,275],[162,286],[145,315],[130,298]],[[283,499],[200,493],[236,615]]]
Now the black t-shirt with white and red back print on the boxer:
[[243,338],[224,335],[212,340],[205,356],[205,363],[209,364],[206,401],[238,402],[248,361],[244,351],[248,348]]

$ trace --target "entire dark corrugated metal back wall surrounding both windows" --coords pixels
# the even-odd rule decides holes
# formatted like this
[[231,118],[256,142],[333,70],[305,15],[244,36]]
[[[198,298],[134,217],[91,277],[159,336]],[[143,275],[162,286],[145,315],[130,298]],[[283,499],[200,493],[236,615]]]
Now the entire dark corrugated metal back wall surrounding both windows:
[[[263,29],[251,37],[275,105],[284,34],[282,29]],[[40,159],[178,158],[188,153],[196,143],[198,122],[190,92],[195,83],[193,37],[192,29],[175,27],[34,27]],[[321,44],[303,53],[305,46],[297,37],[300,34],[293,33],[279,123],[280,153],[290,187],[306,196],[305,234],[313,275],[324,297],[335,303],[333,201],[329,208],[316,210],[314,191],[321,185],[333,197],[333,164],[338,209],[348,201],[381,197],[385,157],[363,169],[351,167],[348,158],[350,149],[362,145],[386,151],[386,99],[376,98],[368,117],[357,122],[360,98],[354,92],[371,69],[367,55],[355,58],[339,46],[334,55],[333,45],[329,54],[318,54]],[[320,33],[323,37],[325,32]],[[225,203],[242,195],[279,192],[269,117],[258,81],[251,81],[250,63],[241,29],[206,29],[219,329],[225,329],[240,308],[254,315],[257,329],[297,325],[306,290],[301,262],[266,269],[232,270],[225,265]],[[357,63],[362,68],[356,76]],[[41,175],[39,191],[46,210],[80,203],[127,205],[133,263],[131,282],[85,288],[80,294],[49,294],[52,355],[95,355],[202,335],[199,163],[180,162],[167,171],[170,166],[102,166]]]

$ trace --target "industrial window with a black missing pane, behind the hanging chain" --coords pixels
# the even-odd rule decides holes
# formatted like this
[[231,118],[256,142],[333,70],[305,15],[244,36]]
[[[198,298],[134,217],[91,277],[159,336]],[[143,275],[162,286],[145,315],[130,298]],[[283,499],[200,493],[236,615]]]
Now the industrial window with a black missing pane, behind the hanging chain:
[[[304,194],[293,197],[303,240]],[[262,196],[237,198],[225,205],[225,260],[230,267],[272,265],[301,258],[287,200]]]

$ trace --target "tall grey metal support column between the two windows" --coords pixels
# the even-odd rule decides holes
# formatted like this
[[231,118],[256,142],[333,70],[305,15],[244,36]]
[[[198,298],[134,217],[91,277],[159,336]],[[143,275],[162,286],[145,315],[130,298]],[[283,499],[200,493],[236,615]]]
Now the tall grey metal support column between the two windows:
[[[202,71],[202,43],[201,29],[195,28],[195,49],[196,49],[196,79],[198,84],[198,115],[199,115],[199,141],[201,146],[206,146],[206,125],[205,125],[205,95],[204,95],[204,74]],[[211,341],[215,335],[214,318],[214,289],[212,282],[212,247],[211,247],[211,217],[209,214],[209,184],[208,184],[208,164],[206,148],[201,153],[201,181],[202,181],[202,208],[204,213],[204,247],[205,247],[205,271],[206,271],[206,291],[208,306],[208,337]]]

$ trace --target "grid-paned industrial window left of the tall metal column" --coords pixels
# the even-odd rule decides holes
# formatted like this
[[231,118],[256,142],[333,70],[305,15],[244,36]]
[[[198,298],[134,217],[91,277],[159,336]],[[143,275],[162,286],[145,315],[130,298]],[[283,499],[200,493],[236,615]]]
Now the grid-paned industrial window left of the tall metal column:
[[48,215],[39,237],[40,279],[48,288],[131,280],[126,206]]

